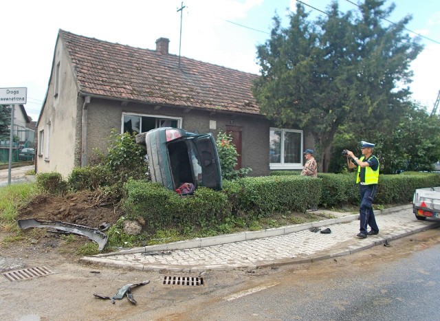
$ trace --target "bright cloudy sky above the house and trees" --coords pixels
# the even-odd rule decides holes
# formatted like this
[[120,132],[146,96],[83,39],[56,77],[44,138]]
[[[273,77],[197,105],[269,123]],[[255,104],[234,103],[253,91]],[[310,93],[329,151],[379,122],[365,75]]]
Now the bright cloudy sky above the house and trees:
[[[325,11],[331,0],[303,0]],[[351,0],[357,3],[357,0]],[[296,0],[185,0],[181,55],[259,73],[256,45],[270,37],[272,17],[285,17]],[[342,11],[355,8],[339,0]],[[387,0],[386,5],[392,1]],[[389,18],[407,25],[426,46],[412,63],[412,98],[432,109],[440,90],[440,1],[396,0]],[[157,38],[170,39],[170,54],[179,54],[181,1],[75,0],[2,1],[0,10],[0,88],[28,87],[25,109],[37,120],[50,78],[59,29],[113,43],[155,49]],[[307,7],[314,14],[320,12]],[[284,19],[287,22],[287,19]],[[411,36],[415,36],[408,32]],[[429,40],[428,38],[432,39]]]

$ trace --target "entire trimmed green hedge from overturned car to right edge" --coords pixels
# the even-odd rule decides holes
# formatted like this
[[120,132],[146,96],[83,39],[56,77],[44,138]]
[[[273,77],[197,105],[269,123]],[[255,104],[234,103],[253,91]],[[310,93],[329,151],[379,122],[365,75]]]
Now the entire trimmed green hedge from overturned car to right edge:
[[[375,203],[406,203],[415,189],[430,186],[440,186],[440,175],[381,175]],[[123,190],[126,219],[142,217],[148,232],[214,228],[230,217],[252,221],[288,211],[305,212],[316,203],[331,207],[358,205],[360,201],[355,173],[321,173],[318,179],[300,175],[245,177],[224,181],[221,191],[200,187],[187,197],[151,181],[130,180]]]

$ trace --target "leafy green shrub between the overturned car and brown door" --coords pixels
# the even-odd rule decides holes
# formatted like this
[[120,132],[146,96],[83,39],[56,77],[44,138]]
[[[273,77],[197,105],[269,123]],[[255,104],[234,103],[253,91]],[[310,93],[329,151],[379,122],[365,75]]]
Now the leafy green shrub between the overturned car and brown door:
[[252,168],[240,168],[235,170],[237,164],[236,157],[239,154],[236,151],[234,144],[232,144],[232,136],[227,133],[219,132],[216,140],[217,152],[219,153],[221,176],[223,179],[237,179],[248,175]]

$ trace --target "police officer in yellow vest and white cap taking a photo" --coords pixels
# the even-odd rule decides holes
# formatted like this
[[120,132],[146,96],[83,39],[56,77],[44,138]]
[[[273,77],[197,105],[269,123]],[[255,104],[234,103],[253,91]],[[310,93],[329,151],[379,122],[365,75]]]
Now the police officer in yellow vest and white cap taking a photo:
[[[349,168],[358,167],[356,183],[360,184],[360,232],[356,236],[360,239],[379,233],[372,206],[377,192],[377,181],[379,181],[379,159],[373,155],[374,146],[375,144],[362,141],[360,158],[351,151],[347,151]],[[366,230],[368,225],[371,228],[369,232]]]

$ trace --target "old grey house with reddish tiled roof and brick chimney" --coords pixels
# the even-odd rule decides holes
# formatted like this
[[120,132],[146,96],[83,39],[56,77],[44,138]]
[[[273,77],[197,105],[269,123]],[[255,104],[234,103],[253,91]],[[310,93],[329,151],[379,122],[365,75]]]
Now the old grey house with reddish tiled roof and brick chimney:
[[[258,77],[156,49],[109,43],[60,30],[37,124],[37,172],[69,175],[94,149],[106,151],[111,129],[137,133],[160,126],[228,131],[239,166],[252,175],[303,166],[302,130],[278,129],[252,96]],[[308,139],[307,139],[308,141]]]

